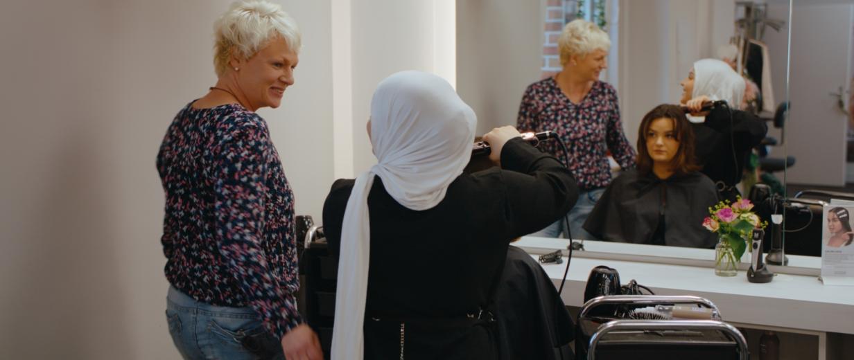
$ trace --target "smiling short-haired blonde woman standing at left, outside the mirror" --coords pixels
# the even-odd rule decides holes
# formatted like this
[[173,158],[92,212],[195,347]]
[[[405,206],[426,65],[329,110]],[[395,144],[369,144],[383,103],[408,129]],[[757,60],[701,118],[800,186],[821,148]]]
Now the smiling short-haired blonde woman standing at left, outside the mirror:
[[300,32],[266,1],[232,4],[214,32],[217,83],[178,112],[157,154],[169,332],[187,359],[319,360],[294,296],[294,195],[255,113],[294,84]]

